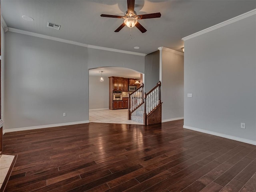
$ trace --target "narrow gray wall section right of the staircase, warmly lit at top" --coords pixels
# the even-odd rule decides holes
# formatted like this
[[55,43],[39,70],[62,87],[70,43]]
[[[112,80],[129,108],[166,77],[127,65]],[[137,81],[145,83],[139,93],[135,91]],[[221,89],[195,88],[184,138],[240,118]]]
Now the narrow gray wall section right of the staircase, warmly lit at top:
[[184,116],[184,56],[162,50],[162,121]]

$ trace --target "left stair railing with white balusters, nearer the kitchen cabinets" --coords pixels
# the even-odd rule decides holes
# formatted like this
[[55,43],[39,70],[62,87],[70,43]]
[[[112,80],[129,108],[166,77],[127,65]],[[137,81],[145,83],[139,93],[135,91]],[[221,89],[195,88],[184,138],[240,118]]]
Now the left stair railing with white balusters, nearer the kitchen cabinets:
[[128,94],[128,120],[132,119],[132,112],[138,109],[144,103],[144,84],[134,92]]

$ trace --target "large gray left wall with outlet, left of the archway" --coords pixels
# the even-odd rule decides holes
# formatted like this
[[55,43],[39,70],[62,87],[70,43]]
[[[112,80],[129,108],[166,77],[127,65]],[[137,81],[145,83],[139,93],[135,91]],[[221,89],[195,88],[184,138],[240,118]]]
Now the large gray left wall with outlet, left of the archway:
[[87,48],[7,32],[5,56],[5,129],[88,120]]

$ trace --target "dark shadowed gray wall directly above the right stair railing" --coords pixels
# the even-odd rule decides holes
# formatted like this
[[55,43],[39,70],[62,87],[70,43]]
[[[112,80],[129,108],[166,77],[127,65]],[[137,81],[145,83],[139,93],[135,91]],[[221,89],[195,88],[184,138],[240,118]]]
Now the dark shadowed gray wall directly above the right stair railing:
[[159,50],[145,56],[145,92],[149,92],[159,81],[159,56]]

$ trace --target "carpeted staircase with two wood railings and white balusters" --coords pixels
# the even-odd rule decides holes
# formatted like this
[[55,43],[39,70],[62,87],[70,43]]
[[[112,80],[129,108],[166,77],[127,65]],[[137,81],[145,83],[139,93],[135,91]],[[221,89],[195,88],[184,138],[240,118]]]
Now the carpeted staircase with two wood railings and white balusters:
[[144,84],[129,94],[128,120],[144,125],[162,122],[161,82],[148,93],[144,93]]

